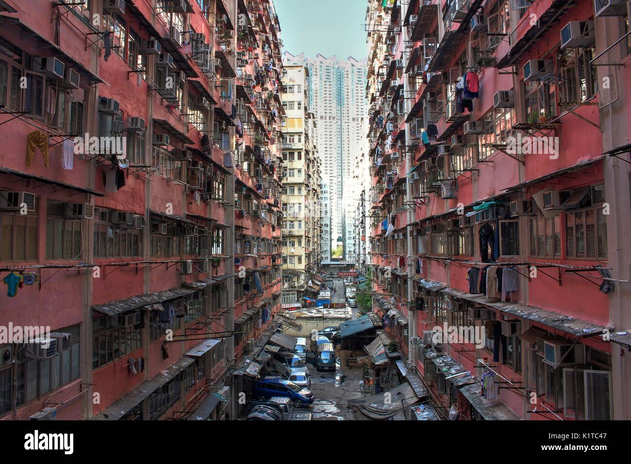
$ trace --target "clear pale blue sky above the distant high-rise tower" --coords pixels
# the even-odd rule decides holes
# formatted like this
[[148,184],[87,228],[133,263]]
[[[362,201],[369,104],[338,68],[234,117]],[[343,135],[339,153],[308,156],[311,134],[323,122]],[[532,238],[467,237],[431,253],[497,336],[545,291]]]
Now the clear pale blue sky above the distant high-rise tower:
[[305,52],[310,58],[319,53],[364,59],[367,7],[367,0],[274,0],[283,51]]

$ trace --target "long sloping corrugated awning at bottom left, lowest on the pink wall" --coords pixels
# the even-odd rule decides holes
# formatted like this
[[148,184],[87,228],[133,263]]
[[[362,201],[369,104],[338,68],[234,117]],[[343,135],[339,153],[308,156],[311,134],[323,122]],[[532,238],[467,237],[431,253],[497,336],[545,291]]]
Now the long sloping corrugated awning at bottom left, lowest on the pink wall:
[[129,393],[121,396],[121,398],[107,408],[103,409],[99,412],[93,420],[119,420],[126,413],[131,411],[133,408],[142,403],[146,398],[148,398],[151,393],[158,390],[158,388],[162,387],[168,381],[172,380],[179,374],[184,371],[187,367],[189,367],[194,362],[194,359],[189,357],[183,357],[175,364],[172,364],[170,367],[165,369],[162,372],[165,374],[158,374],[154,378],[144,381],[139,384],[136,388],[134,388]]

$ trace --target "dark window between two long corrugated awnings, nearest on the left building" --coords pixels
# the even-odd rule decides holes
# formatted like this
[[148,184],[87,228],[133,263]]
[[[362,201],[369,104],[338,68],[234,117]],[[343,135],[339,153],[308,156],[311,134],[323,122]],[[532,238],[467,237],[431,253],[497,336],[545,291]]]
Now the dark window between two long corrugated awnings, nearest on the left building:
[[105,366],[142,346],[140,328],[117,326],[112,324],[109,316],[92,319],[92,369]]

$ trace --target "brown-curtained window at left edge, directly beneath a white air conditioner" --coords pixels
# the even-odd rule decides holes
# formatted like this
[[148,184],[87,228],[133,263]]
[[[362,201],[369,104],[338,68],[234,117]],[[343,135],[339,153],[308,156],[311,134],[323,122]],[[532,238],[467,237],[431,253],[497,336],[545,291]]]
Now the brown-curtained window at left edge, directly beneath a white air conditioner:
[[37,223],[33,214],[0,214],[0,262],[37,260]]

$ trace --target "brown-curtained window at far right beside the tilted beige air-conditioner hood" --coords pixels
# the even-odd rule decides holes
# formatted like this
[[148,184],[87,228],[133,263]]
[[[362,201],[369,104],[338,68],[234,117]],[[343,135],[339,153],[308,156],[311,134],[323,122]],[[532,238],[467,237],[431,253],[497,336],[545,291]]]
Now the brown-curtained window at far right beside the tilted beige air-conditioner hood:
[[579,206],[565,213],[565,253],[575,258],[607,258],[607,220],[603,214],[604,184],[592,186]]

